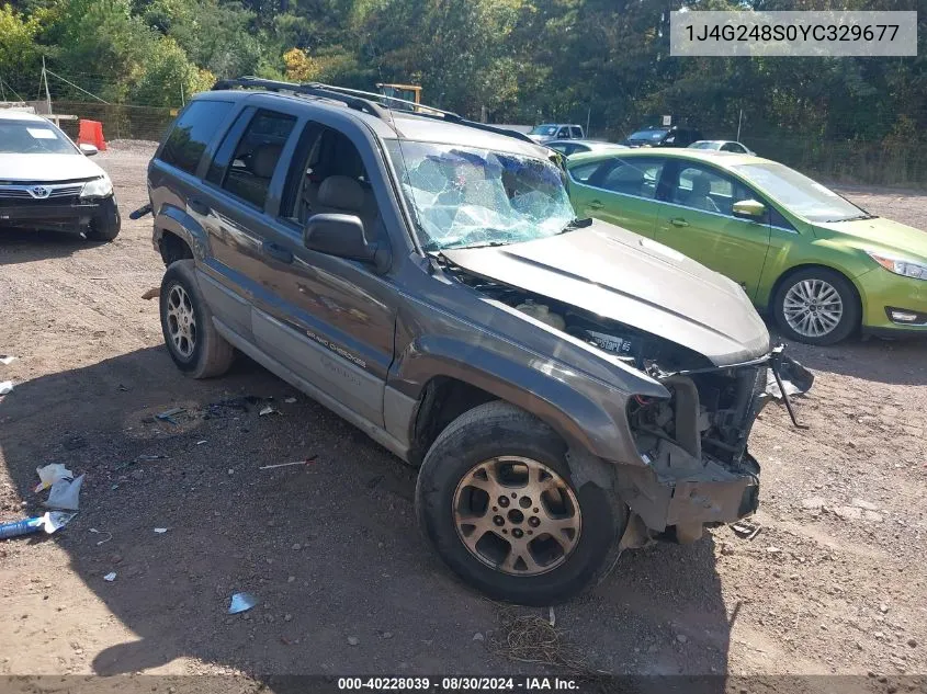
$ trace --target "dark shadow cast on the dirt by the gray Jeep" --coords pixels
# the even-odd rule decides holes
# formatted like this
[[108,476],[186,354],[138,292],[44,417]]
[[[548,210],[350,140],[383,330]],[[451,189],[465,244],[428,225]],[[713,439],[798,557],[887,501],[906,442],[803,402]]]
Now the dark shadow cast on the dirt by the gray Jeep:
[[[255,397],[234,399],[245,395]],[[265,405],[280,413],[260,416]],[[152,419],[171,408],[185,410],[174,423]],[[0,422],[26,512],[42,512],[36,467],[87,474],[70,525],[11,542],[56,543],[137,635],[95,652],[99,674],[179,657],[258,675],[725,672],[730,619],[711,538],[623,555],[606,581],[556,607],[565,634],[552,648],[536,632],[547,610],[493,603],[439,565],[416,525],[415,470],[247,360],[195,382],[163,348],[135,351],[18,383]],[[90,528],[112,539],[100,545]],[[237,591],[260,604],[227,615]],[[512,626],[512,614],[541,622]]]

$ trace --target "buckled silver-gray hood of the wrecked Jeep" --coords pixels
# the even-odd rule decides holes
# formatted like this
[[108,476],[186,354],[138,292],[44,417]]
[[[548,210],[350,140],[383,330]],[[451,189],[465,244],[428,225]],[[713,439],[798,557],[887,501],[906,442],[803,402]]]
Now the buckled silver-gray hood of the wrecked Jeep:
[[733,281],[620,227],[444,251],[464,270],[615,320],[723,366],[769,352],[769,332]]

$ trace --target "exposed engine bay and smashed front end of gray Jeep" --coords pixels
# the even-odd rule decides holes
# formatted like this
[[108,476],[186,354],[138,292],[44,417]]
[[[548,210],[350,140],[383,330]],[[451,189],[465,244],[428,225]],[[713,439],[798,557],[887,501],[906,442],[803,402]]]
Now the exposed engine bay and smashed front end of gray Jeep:
[[622,466],[622,497],[649,531],[697,539],[705,523],[756,510],[759,465],[747,452],[757,414],[771,398],[807,390],[813,375],[777,348],[717,366],[670,340],[522,289],[461,273],[481,293],[644,372],[669,398],[632,396],[628,424],[642,465]]

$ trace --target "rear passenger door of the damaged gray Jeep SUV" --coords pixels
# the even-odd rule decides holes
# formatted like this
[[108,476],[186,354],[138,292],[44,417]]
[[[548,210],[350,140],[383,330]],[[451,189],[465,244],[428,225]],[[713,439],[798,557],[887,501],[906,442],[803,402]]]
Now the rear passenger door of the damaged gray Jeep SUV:
[[296,130],[297,115],[255,103],[240,111],[189,206],[208,237],[211,253],[201,283],[213,312],[242,338],[251,339],[251,304],[271,289],[264,259],[269,241],[265,209],[274,180],[286,177],[282,153]]

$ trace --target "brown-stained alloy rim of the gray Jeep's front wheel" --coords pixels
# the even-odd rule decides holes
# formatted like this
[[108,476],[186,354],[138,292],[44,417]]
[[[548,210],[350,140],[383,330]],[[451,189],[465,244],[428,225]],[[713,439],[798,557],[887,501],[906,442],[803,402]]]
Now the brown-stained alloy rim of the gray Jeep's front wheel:
[[470,553],[509,576],[551,571],[576,548],[579,503],[543,463],[500,456],[473,466],[454,491],[454,527]]

